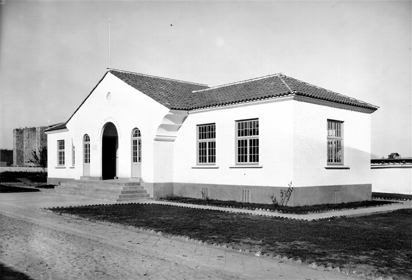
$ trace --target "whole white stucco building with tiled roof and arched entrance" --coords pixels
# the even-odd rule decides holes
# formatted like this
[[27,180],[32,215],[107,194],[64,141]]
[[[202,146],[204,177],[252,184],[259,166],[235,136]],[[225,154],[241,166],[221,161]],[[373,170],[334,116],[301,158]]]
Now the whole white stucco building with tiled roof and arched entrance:
[[288,205],[371,199],[378,107],[275,74],[206,85],[108,69],[48,134],[48,183],[141,178],[168,194]]

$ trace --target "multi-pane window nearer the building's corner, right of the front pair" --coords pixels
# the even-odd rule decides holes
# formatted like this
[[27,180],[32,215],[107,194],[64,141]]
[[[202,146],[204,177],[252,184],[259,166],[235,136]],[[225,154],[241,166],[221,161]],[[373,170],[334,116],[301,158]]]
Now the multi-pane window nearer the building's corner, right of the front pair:
[[236,163],[259,163],[259,120],[236,122]]

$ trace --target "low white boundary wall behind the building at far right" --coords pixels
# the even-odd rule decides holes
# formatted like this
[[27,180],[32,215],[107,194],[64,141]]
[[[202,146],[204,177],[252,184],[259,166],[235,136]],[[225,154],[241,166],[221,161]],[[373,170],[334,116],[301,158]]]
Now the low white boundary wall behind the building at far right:
[[412,194],[412,164],[371,166],[372,191]]

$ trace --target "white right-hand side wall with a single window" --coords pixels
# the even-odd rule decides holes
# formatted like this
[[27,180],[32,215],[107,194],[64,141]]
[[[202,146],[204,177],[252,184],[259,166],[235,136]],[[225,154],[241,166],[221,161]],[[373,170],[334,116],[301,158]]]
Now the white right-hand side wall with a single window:
[[[344,165],[327,166],[327,120],[343,123]],[[370,114],[295,101],[294,187],[371,184]]]

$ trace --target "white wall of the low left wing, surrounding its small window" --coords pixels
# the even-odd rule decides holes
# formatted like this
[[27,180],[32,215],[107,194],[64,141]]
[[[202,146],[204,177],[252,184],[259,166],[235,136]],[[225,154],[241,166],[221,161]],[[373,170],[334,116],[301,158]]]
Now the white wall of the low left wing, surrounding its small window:
[[[58,166],[57,141],[64,140],[64,166]],[[72,142],[70,132],[51,131],[47,135],[47,163],[48,177],[52,178],[74,178],[74,168],[72,166]],[[75,158],[76,159],[76,158]]]

